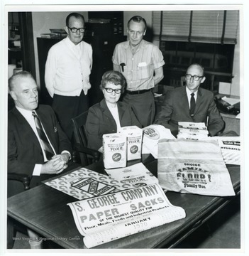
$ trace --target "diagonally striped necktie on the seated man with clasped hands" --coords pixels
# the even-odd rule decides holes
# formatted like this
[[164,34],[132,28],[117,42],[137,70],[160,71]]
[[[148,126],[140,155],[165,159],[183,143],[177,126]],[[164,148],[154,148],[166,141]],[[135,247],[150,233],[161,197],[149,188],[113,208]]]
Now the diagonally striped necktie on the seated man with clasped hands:
[[46,134],[44,132],[43,126],[40,123],[40,119],[38,117],[38,115],[32,111],[32,115],[34,117],[35,120],[35,127],[37,129],[39,138],[40,138],[40,143],[43,146],[43,150],[45,151],[45,155],[47,157],[48,160],[50,160],[52,158],[52,156],[54,155],[54,152],[52,151],[52,147],[50,145],[50,143],[48,142],[48,138],[46,137]]

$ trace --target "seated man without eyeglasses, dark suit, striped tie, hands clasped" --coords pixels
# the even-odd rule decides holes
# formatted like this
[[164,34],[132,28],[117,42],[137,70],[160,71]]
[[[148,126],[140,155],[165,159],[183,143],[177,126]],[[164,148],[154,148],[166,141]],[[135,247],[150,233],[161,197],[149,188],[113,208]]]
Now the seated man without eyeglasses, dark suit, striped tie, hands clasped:
[[38,105],[31,73],[9,78],[15,107],[8,114],[8,172],[28,174],[31,187],[67,169],[72,146],[48,105]]

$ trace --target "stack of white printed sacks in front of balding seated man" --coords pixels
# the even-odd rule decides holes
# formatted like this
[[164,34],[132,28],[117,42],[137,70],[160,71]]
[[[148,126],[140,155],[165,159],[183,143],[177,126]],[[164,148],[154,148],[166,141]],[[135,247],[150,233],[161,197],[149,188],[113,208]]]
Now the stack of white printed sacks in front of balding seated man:
[[206,139],[208,137],[206,125],[202,122],[179,122],[177,139]]

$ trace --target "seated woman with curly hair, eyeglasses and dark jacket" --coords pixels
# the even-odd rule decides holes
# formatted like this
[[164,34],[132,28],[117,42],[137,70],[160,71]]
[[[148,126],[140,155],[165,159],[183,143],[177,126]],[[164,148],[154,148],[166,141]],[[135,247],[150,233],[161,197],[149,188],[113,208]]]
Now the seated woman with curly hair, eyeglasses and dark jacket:
[[131,107],[125,102],[118,102],[125,91],[126,78],[118,71],[107,71],[102,76],[100,90],[104,99],[89,108],[86,131],[88,147],[102,149],[103,134],[118,132],[121,127],[136,125],[142,127]]

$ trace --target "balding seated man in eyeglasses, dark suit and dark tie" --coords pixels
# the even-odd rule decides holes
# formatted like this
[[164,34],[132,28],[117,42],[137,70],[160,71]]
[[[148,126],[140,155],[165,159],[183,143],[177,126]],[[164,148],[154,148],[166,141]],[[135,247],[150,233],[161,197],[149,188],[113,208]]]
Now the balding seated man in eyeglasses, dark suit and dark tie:
[[155,124],[162,124],[177,137],[178,122],[204,122],[213,137],[223,130],[224,122],[214,102],[214,94],[200,87],[206,79],[204,68],[192,64],[185,75],[186,86],[170,90],[165,95]]

